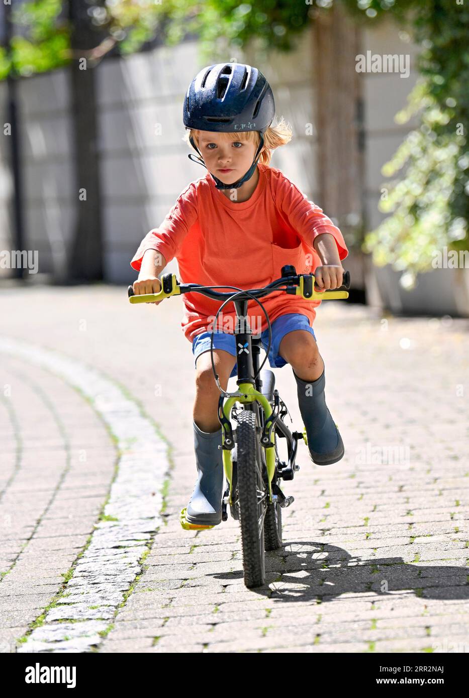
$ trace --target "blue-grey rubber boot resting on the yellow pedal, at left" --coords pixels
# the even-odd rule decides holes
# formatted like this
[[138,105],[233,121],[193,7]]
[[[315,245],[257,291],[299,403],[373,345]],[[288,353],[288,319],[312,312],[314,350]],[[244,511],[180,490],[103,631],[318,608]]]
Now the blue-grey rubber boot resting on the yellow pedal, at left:
[[224,471],[222,427],[208,432],[194,424],[194,448],[199,478],[187,505],[186,519],[199,526],[216,526],[222,521]]

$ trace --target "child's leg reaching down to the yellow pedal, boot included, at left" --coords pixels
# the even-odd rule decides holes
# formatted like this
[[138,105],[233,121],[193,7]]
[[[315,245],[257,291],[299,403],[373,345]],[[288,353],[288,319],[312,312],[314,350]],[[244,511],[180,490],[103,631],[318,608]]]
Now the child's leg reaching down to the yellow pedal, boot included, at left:
[[[224,390],[236,364],[235,351],[234,341],[233,354],[222,349],[213,351],[215,371]],[[224,471],[222,450],[219,448],[222,445],[222,427],[217,417],[218,400],[219,389],[212,372],[210,351],[205,350],[196,357],[193,427],[198,478],[186,511],[187,521],[199,526],[214,526],[222,521]]]

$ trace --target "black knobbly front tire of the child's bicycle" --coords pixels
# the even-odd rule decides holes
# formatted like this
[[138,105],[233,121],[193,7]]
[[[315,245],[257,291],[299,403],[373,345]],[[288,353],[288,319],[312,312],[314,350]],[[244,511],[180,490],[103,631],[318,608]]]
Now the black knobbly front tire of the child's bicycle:
[[[264,586],[266,568],[264,558],[264,515],[266,484],[262,480],[261,463],[257,456],[256,415],[244,410],[236,428],[238,444],[238,502],[243,549],[244,582],[247,588]],[[258,486],[264,498],[258,496]]]

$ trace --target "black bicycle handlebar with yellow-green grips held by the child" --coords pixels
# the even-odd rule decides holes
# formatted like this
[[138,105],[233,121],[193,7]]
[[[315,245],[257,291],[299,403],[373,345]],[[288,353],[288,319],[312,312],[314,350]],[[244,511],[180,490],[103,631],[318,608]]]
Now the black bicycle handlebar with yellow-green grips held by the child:
[[[261,298],[264,295],[273,293],[277,290],[284,290],[286,293],[291,295],[300,296],[306,300],[334,300],[348,298],[349,294],[347,289],[350,288],[350,272],[344,272],[342,285],[340,288],[334,290],[321,291],[315,284],[314,274],[296,274],[295,267],[292,265],[285,265],[281,269],[282,276],[280,279],[269,283],[263,288],[253,288],[247,293],[250,296],[246,296],[246,300],[252,299],[252,296],[256,298]],[[279,286],[286,285],[287,288],[278,288]],[[232,293],[221,293],[215,291],[215,288],[233,288]],[[141,295],[136,295],[134,293],[134,288],[129,286],[129,302],[132,304],[136,303],[155,303],[168,298],[170,296],[182,295],[182,293],[193,293],[199,292],[203,295],[211,298],[213,300],[225,301],[231,298],[235,293],[239,294],[239,290],[236,287],[231,287],[229,285],[219,285],[219,286],[203,286],[199,283],[179,283],[176,279],[175,274],[164,274],[161,277],[161,291],[158,293],[144,293]],[[237,296],[237,300],[243,299],[242,295]]]

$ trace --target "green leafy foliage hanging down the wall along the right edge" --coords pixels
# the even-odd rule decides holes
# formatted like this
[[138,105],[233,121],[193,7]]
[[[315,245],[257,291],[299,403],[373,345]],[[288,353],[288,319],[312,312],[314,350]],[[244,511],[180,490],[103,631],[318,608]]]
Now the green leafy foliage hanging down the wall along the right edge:
[[[356,8],[354,0],[347,4]],[[377,1],[362,5],[383,14]],[[396,121],[417,115],[419,127],[382,168],[401,178],[384,184],[380,209],[391,215],[366,236],[364,249],[378,265],[406,270],[412,285],[417,272],[432,268],[435,251],[469,249],[469,8],[456,0],[407,0],[397,14],[412,22],[421,78]]]

